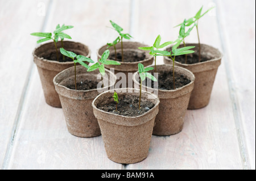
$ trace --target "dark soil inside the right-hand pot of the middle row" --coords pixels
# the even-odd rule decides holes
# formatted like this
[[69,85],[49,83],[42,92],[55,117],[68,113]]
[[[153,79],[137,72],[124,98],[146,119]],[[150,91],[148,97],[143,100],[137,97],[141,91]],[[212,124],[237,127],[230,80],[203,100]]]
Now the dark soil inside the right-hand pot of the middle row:
[[[183,87],[191,82],[183,74],[175,73],[174,77],[175,77],[175,89],[179,87]],[[141,81],[141,79],[139,79],[139,81]],[[147,86],[147,81],[146,81],[146,86]],[[151,81],[151,87],[154,88],[154,81]],[[172,71],[158,71],[158,89],[174,90],[174,81],[173,81]]]

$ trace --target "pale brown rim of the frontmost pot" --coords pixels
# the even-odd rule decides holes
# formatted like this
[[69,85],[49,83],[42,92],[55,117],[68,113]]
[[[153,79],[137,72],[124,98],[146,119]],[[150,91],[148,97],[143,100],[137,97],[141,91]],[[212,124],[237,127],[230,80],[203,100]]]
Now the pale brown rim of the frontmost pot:
[[[95,102],[97,101],[98,98],[100,98],[100,96],[102,96],[103,94],[108,94],[110,91],[115,91],[115,90],[133,90],[133,92],[136,90],[136,91],[139,91],[138,89],[134,89],[134,88],[121,88],[121,89],[114,89],[114,90],[109,90],[109,91],[105,91],[105,92],[102,92],[100,95],[98,95],[92,102],[92,107],[94,109],[96,109],[97,111],[100,111],[101,113],[104,113],[104,114],[108,114],[108,115],[113,115],[115,117],[122,117],[122,118],[125,118],[125,119],[139,119],[145,115],[148,115],[150,114],[151,112],[153,112],[155,110],[156,107],[159,106],[159,103],[160,103],[160,99],[158,98],[158,96],[150,93],[150,92],[147,92],[147,91],[142,91],[142,94],[148,94],[148,95],[151,95],[152,97],[154,97],[154,99],[156,99],[156,103],[155,103],[155,106],[153,108],[151,108],[149,111],[143,113],[142,115],[139,115],[139,116],[123,116],[123,115],[118,115],[116,113],[112,113],[112,112],[106,112],[106,111],[103,111],[103,110],[100,110],[99,108],[96,107],[95,105]],[[127,94],[129,94],[130,92],[127,92]],[[108,121],[110,122],[110,121]],[[111,123],[111,122],[110,122]],[[115,123],[116,124],[116,123]]]

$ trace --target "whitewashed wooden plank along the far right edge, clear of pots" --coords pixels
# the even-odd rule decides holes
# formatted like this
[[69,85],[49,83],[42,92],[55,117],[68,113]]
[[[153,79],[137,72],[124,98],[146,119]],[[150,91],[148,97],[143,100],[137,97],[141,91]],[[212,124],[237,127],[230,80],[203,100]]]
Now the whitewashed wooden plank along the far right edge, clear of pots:
[[255,1],[217,3],[242,154],[247,169],[255,169]]

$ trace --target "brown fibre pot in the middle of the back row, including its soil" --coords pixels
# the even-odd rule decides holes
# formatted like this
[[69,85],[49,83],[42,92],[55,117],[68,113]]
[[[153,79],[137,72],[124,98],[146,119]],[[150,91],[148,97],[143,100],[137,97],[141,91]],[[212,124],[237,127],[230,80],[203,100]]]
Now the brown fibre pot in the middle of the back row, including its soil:
[[[138,64],[141,63],[144,66],[149,66],[152,65],[154,62],[154,57],[148,54],[147,51],[145,50],[140,50],[138,47],[148,47],[148,45],[139,43],[139,42],[132,42],[132,41],[125,41],[123,42],[123,53],[125,54],[124,56],[124,61],[121,61],[121,43],[118,43],[116,46],[117,49],[117,54],[118,54],[118,62],[121,65],[105,65],[107,69],[114,68],[115,74],[118,73],[124,73],[126,76],[126,87],[133,87],[133,73],[138,70]],[[97,57],[98,60],[101,58],[101,55],[104,53],[104,51],[107,49],[108,45],[104,45],[97,51]],[[110,56],[109,59],[115,60],[114,58],[114,48],[110,47]],[[129,57],[130,58],[127,58]],[[130,73],[130,74],[128,74]],[[119,78],[117,76],[117,78]],[[121,79],[121,78],[120,78]],[[129,85],[128,82],[131,82]],[[125,88],[125,87],[120,87],[120,88]]]

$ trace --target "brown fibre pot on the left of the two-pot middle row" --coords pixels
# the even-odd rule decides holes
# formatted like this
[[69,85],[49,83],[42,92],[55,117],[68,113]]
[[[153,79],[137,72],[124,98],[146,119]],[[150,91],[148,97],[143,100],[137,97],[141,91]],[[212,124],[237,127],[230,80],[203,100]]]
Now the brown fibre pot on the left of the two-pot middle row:
[[[115,75],[106,70],[108,79],[104,78],[104,85],[108,86],[103,89],[92,90],[72,90],[68,85],[75,85],[75,68],[68,68],[61,71],[53,79],[56,91],[60,96],[60,102],[63,108],[65,120],[69,133],[78,137],[95,137],[100,136],[101,131],[98,121],[93,115],[92,102],[99,91],[106,91],[115,84]],[[94,70],[88,72],[84,66],[76,66],[77,82],[87,80],[97,80],[97,74],[100,71]],[[105,76],[106,76],[105,75]],[[101,77],[101,76],[100,76]],[[101,81],[101,80],[98,80]]]

